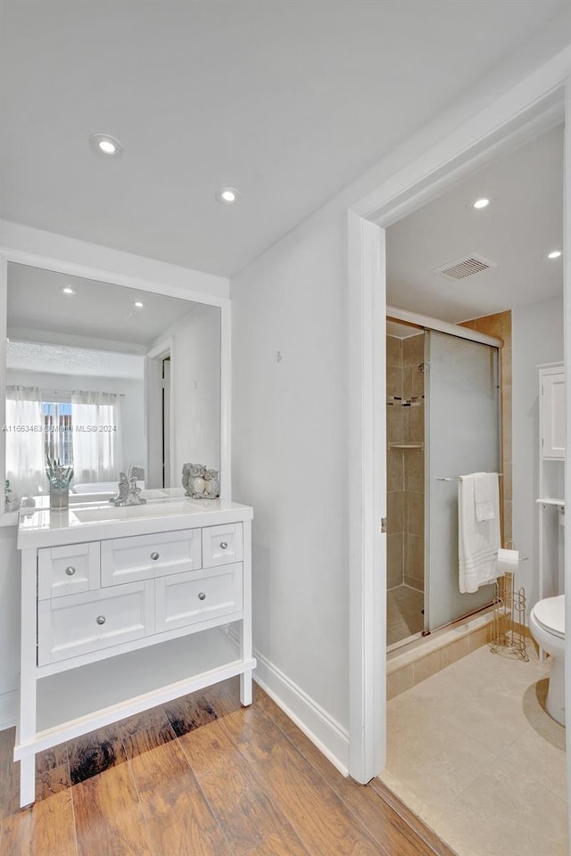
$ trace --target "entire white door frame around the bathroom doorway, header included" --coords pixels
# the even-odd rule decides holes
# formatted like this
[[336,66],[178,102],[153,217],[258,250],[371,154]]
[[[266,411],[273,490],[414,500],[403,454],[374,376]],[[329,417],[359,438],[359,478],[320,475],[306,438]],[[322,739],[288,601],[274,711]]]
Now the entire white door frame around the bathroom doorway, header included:
[[[349,773],[365,784],[386,762],[385,229],[492,156],[566,120],[564,214],[565,360],[571,365],[571,46],[388,177],[348,210],[350,625]],[[571,384],[567,384],[571,449]],[[566,491],[571,496],[571,468]],[[565,539],[569,540],[566,520]],[[571,550],[565,579],[571,591]],[[571,627],[571,597],[566,603]],[[571,633],[566,657],[571,668]],[[566,681],[571,734],[571,679]],[[571,793],[571,754],[567,778]],[[569,813],[571,827],[571,808]]]

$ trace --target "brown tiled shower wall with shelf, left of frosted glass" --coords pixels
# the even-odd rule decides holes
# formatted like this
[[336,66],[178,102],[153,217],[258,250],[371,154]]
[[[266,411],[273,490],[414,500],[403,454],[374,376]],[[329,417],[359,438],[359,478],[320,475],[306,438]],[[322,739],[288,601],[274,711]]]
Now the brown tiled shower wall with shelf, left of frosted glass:
[[[424,333],[386,337],[388,588],[424,590]],[[395,444],[419,444],[396,449]]]

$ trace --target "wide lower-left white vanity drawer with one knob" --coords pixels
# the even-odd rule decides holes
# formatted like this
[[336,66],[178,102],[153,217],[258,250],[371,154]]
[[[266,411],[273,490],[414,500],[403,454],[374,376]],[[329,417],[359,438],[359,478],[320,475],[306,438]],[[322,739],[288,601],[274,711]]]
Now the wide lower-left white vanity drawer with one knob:
[[90,654],[153,631],[153,582],[40,601],[37,664]]

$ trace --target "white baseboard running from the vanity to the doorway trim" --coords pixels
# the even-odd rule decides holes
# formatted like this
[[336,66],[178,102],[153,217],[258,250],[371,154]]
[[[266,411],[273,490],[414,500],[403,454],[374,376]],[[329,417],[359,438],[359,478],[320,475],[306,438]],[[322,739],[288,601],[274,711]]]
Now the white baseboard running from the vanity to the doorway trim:
[[[230,630],[230,636],[237,640],[233,628]],[[343,776],[347,776],[349,732],[255,648],[253,656],[258,661],[253,671],[255,682],[268,693],[303,734],[310,738],[311,743],[318,747],[327,760],[331,761]]]

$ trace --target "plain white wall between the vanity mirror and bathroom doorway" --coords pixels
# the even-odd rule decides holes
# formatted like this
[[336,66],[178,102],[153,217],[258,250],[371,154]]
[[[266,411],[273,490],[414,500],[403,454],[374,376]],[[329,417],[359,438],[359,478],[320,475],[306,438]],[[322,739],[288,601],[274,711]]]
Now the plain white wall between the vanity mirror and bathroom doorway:
[[284,672],[343,729],[345,243],[344,216],[312,221],[232,283],[234,498],[254,507],[254,646],[269,661],[257,674]]

